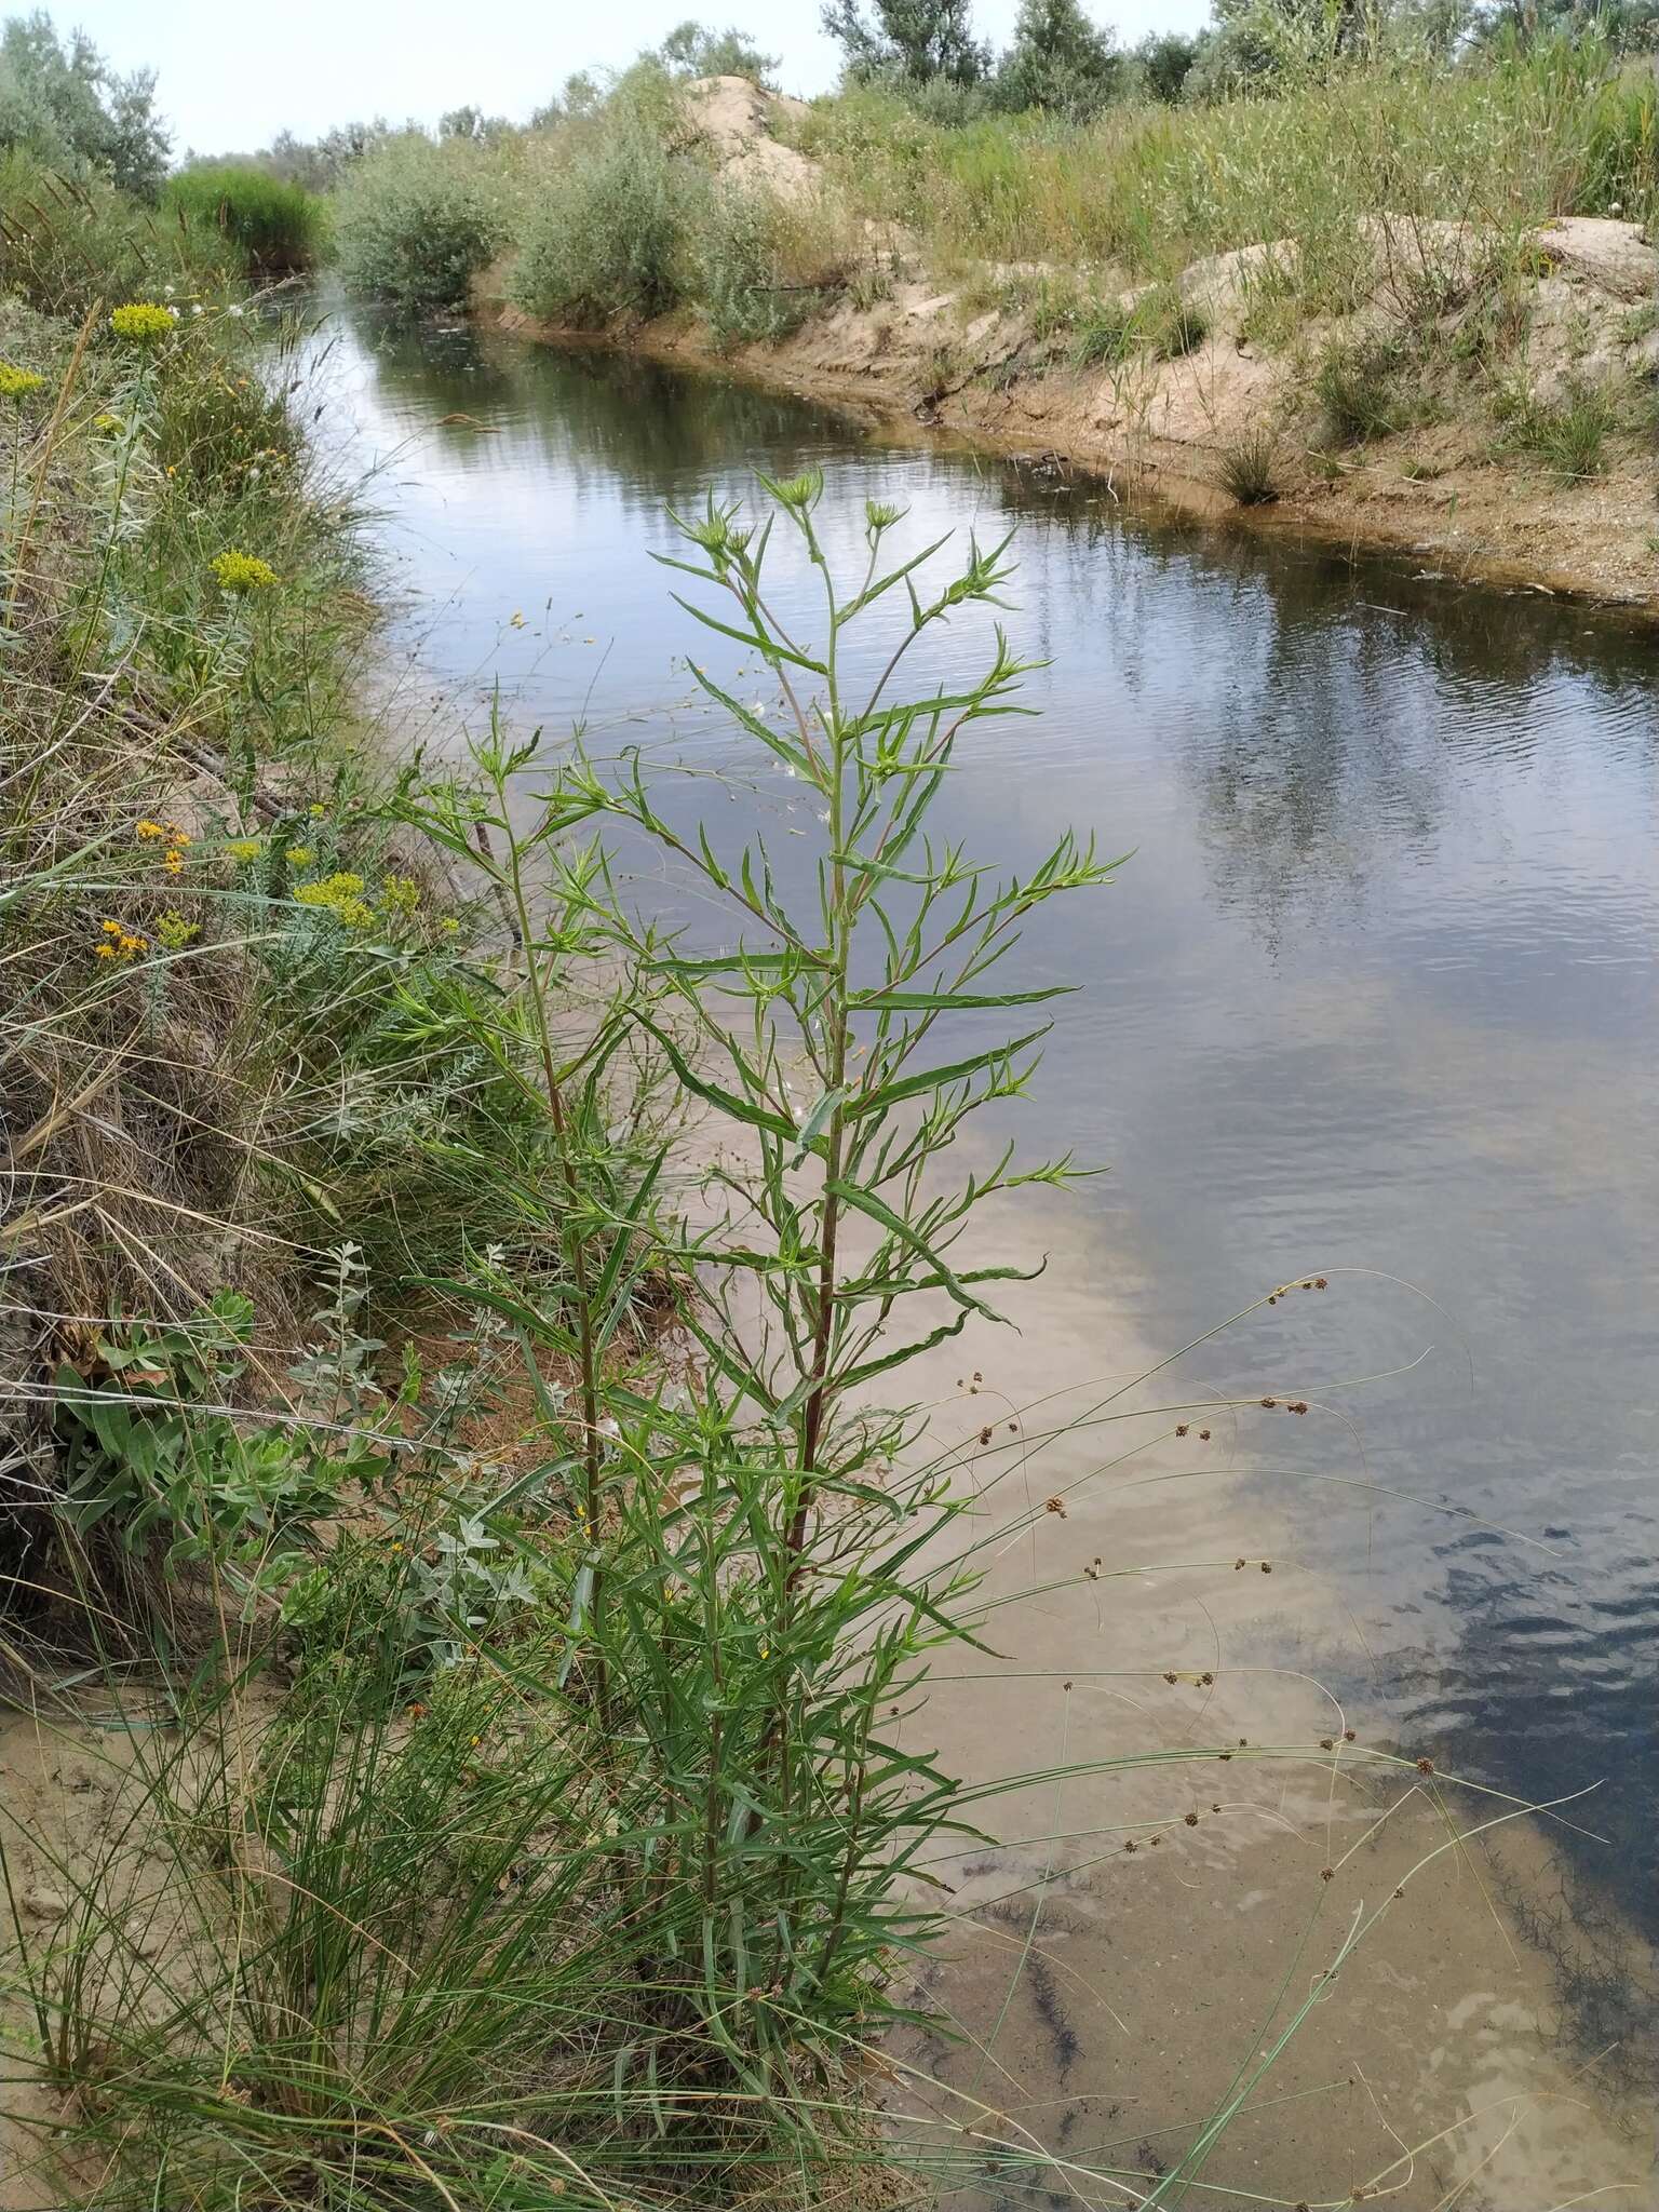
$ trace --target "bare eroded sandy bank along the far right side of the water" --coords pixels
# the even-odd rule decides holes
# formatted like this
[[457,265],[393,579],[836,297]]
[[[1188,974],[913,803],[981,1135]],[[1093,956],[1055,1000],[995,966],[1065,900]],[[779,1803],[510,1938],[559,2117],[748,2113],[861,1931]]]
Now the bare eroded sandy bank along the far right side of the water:
[[[692,88],[699,93],[699,88]],[[814,166],[776,142],[779,111],[741,80],[706,80],[703,128],[726,168],[772,190],[818,190]],[[1486,577],[1659,617],[1659,462],[1650,398],[1659,374],[1659,248],[1637,223],[1568,217],[1531,241],[1524,299],[1506,299],[1515,330],[1511,398],[1559,407],[1604,392],[1619,414],[1595,473],[1546,465],[1504,431],[1491,378],[1455,367],[1473,319],[1489,314],[1486,243],[1471,226],[1378,215],[1365,241],[1369,283],[1340,323],[1303,323],[1267,345],[1259,336],[1263,274],[1294,257],[1290,241],[1194,263],[1181,301],[1203,338],[1177,358],[1137,352],[1110,367],[1075,367],[1066,334],[1044,334],[1029,270],[980,270],[942,281],[907,248],[880,254],[872,285],[825,294],[781,343],[714,354],[695,314],[613,330],[602,341],[538,323],[509,301],[511,265],[473,290],[476,312],[549,343],[622,345],[695,367],[719,365],[770,387],[832,400],[885,427],[947,431],[1035,458],[1042,467],[1106,478],[1130,502],[1228,515],[1270,533],[1418,555],[1449,577]],[[1062,272],[1055,272],[1062,274]],[[1431,290],[1442,305],[1425,336],[1453,367],[1400,407],[1398,429],[1360,442],[1332,436],[1316,392],[1332,345],[1367,345],[1407,327],[1407,303]],[[998,305],[982,305],[1000,294]],[[1133,290],[1124,290],[1133,301]],[[1272,453],[1276,498],[1241,507],[1221,489],[1228,456],[1250,440]]]

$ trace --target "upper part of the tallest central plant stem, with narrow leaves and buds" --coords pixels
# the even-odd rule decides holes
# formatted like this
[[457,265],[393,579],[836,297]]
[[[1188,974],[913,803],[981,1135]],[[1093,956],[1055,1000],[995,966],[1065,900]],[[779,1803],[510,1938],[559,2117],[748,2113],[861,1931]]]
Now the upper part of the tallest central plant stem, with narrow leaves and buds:
[[[681,1002],[695,1046],[681,1053],[650,1015],[639,1020],[650,1022],[686,1088],[745,1130],[754,1148],[752,1170],[732,1170],[732,1179],[743,1208],[765,1223],[772,1250],[734,1263],[754,1279],[770,1327],[757,1349],[741,1352],[743,1329],[692,1325],[787,1444],[799,1471],[790,1517],[799,1551],[852,1394],[956,1334],[969,1314],[989,1312],[982,1285],[1013,1274],[951,1263],[969,1214],[998,1190],[1068,1175],[1064,1161],[1013,1172],[1004,1152],[991,1172],[936,1188],[933,1170],[967,1119],[1024,1088],[1046,1024],[949,1048],[945,1057],[936,1033],[962,1018],[982,1026],[987,1015],[1053,1000],[1055,989],[1000,989],[991,969],[1015,947],[1033,907],[1106,883],[1117,863],[1097,860],[1093,841],[1079,843],[1066,830],[1029,874],[995,878],[960,845],[929,834],[962,734],[1022,712],[1015,695],[1029,664],[1015,659],[998,628],[980,675],[940,690],[896,690],[927,633],[962,608],[1002,604],[1006,540],[989,551],[973,544],[962,568],[922,599],[918,577],[942,540],[883,566],[902,515],[869,502],[865,571],[843,588],[814,524],[823,478],[807,471],[763,482],[776,509],[765,526],[748,529],[734,507],[710,500],[703,518],[681,522],[697,557],[670,566],[723,595],[723,613],[692,613],[759,655],[779,679],[783,728],[699,670],[708,697],[823,801],[814,902],[807,911],[785,907],[761,841],[730,865],[708,838],[688,845],[657,812],[637,761],[602,803],[690,865],[743,925],[737,949],[714,960],[670,958],[644,938],[630,945]],[[772,613],[763,571],[776,518],[823,577],[816,646]],[[905,619],[860,684],[849,633],[883,602]],[[741,1022],[723,1015],[732,1004],[745,1009]],[[796,1084],[812,1093],[803,1108],[794,1106]],[[863,1234],[869,1250],[854,1256],[847,1232]],[[905,1301],[918,1294],[945,1296],[951,1318],[902,1334]],[[867,1425],[854,1422],[860,1464],[869,1458],[867,1436]]]

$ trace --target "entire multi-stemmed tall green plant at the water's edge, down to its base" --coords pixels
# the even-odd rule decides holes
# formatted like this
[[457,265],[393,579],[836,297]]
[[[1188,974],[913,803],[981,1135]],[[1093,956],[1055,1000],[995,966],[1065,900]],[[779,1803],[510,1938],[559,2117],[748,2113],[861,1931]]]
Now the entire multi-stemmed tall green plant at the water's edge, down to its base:
[[[922,597],[940,546],[889,564],[900,513],[872,504],[863,573],[843,588],[814,522],[821,478],[765,489],[772,522],[823,577],[821,644],[772,611],[772,522],[752,531],[710,502],[681,524],[690,557],[670,566],[726,595],[723,613],[695,613],[759,655],[787,701],[774,728],[701,675],[818,799],[803,907],[785,902],[759,841],[721,860],[703,832],[675,830],[637,759],[606,776],[575,752],[535,790],[535,750],[495,741],[480,752],[482,796],[438,790],[411,812],[458,852],[482,834],[524,962],[513,1020],[542,1037],[546,1108],[566,1115],[562,1290],[478,1292],[526,1349],[575,1369],[575,1405],[544,1407],[549,1453],[526,1478],[564,1491],[580,1537],[560,1683],[573,1725],[602,1730],[595,1761],[615,1790],[653,1807],[646,1838],[615,1834],[617,1878],[695,1916],[670,1947],[679,1964],[657,1969],[679,1991],[670,2017],[695,2020],[745,2086],[774,2095],[867,2033],[891,1949],[933,1927],[909,1869],[958,1820],[958,1785],[900,1752],[887,1717],[938,1644],[973,1635],[975,1546],[951,1546],[960,1500],[927,1455],[911,1464],[918,1425],[878,1398],[1020,1274],[956,1256],[973,1212],[1024,1181],[1066,1179],[1064,1161],[1015,1170],[1006,1152],[962,1183],[938,1166],[1035,1066],[1042,1026],[982,1033],[1055,995],[993,973],[1022,918],[1110,865],[1066,832],[1029,874],[998,880],[929,830],[964,732],[1020,712],[1022,664],[998,633],[989,666],[960,686],[909,692],[902,670],[953,615],[1000,604],[1004,546],[971,546]],[[898,626],[869,661],[858,639],[889,611]],[[701,956],[639,922],[606,825],[686,865],[737,918],[734,949]],[[597,942],[633,982],[560,1042],[553,978]],[[980,1042],[942,1046],[958,1020]],[[624,1031],[726,1124],[712,1188],[730,1210],[712,1223],[659,1203],[659,1161],[595,1194],[599,1071]],[[568,1115],[577,1071],[588,1139]],[[681,1281],[688,1394],[608,1369],[615,1301],[653,1250]],[[909,1321],[918,1298],[945,1316]]]

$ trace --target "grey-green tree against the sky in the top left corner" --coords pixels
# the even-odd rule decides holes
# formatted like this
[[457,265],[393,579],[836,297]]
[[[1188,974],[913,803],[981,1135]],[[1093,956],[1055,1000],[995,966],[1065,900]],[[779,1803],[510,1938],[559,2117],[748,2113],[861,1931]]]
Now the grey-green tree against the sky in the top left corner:
[[117,75],[84,31],[64,42],[51,15],[0,27],[0,153],[155,199],[168,135],[155,115],[155,71]]

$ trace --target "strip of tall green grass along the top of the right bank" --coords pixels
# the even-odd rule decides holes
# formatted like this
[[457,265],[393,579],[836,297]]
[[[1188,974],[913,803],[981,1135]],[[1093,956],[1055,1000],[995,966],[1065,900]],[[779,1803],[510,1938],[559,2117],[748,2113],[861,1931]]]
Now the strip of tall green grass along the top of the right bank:
[[1206,254],[1290,239],[1294,303],[1347,314],[1363,223],[1475,221],[1511,237],[1553,215],[1644,219],[1659,195],[1659,93],[1606,49],[1544,42],[1451,69],[1354,58],[1276,97],[1117,104],[1086,128],[929,119],[887,84],[807,117],[803,144],[858,212],[947,265],[1060,261],[1166,279]]

